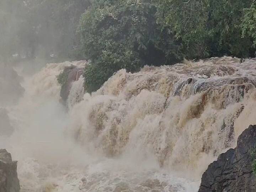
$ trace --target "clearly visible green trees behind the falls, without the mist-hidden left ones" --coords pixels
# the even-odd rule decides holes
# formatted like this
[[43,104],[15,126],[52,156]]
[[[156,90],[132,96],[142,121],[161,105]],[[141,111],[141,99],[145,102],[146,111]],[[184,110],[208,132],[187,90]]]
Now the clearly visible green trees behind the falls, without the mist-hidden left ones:
[[254,57],[255,1],[98,0],[80,19],[87,90],[115,71],[187,59]]

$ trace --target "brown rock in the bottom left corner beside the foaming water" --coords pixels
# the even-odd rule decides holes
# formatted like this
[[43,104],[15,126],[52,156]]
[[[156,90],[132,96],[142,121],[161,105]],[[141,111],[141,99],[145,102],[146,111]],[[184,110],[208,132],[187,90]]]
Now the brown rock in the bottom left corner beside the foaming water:
[[0,192],[19,191],[17,161],[12,161],[11,154],[5,149],[0,149]]

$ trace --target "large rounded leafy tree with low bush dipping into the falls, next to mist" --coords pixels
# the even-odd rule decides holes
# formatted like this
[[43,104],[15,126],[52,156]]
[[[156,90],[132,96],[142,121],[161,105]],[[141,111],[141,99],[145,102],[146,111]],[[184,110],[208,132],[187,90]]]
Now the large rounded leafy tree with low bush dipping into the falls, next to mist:
[[78,29],[84,56],[91,59],[84,75],[87,90],[97,90],[119,69],[136,71],[145,64],[172,64],[183,58],[180,43],[159,28],[155,13],[150,0],[92,1]]

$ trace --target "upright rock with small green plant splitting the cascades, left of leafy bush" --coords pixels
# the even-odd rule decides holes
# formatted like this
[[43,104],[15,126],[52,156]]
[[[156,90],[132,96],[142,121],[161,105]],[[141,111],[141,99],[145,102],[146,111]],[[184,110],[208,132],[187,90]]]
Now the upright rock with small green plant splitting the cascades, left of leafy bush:
[[67,79],[60,90],[60,97],[62,98],[63,103],[66,103],[72,83],[77,81],[82,75],[82,68],[78,68],[75,65],[66,66],[63,73],[67,76]]

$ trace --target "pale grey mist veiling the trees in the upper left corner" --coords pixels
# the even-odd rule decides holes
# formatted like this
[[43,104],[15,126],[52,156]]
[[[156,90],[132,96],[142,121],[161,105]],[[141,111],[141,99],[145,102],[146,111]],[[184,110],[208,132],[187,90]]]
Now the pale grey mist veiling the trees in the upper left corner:
[[88,5],[82,0],[1,0],[1,59],[71,59],[78,49],[79,18]]

